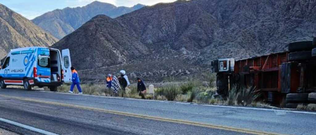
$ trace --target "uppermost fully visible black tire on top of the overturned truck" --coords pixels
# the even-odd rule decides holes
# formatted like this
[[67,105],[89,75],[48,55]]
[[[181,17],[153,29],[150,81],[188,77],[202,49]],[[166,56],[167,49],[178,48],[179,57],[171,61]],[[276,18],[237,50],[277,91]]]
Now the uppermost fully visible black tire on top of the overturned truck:
[[302,51],[313,49],[313,41],[298,41],[289,43],[289,51]]

